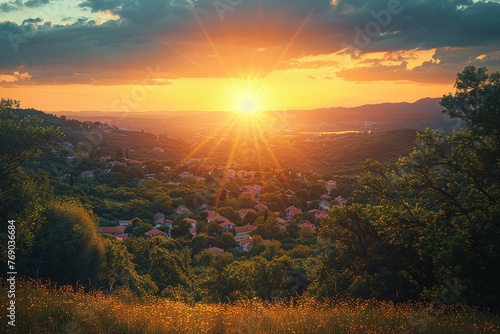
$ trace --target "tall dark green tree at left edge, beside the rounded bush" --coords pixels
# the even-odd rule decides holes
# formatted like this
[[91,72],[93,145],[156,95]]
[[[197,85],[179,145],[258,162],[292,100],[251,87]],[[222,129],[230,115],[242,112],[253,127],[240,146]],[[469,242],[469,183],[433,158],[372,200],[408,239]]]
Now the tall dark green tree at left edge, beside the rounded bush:
[[[48,174],[33,169],[62,133],[43,127],[38,117],[23,114],[19,102],[0,99],[0,226],[7,231],[8,221],[15,220],[16,269],[26,275],[35,274],[30,271],[35,233],[43,207],[53,195]],[[4,256],[2,263],[6,263]]]

